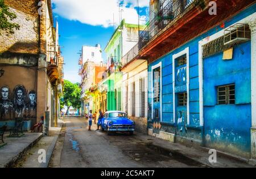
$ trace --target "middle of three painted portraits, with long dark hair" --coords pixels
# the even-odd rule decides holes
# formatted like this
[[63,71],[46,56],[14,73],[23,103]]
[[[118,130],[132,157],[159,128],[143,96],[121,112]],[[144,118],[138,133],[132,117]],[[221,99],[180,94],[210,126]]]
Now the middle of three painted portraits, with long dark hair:
[[22,85],[14,88],[14,110],[15,118],[22,118],[25,112],[26,89]]

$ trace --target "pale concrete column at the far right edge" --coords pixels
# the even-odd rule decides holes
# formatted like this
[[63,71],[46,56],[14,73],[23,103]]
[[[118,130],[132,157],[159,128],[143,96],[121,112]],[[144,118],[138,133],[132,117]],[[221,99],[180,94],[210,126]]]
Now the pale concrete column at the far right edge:
[[256,159],[256,20],[249,23],[251,30],[251,158]]

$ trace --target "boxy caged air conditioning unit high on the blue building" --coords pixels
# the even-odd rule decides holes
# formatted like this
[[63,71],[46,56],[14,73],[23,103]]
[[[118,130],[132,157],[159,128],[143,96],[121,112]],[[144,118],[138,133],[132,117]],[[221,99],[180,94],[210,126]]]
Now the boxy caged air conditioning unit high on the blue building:
[[250,40],[251,32],[247,24],[237,23],[224,32],[224,45],[233,45]]

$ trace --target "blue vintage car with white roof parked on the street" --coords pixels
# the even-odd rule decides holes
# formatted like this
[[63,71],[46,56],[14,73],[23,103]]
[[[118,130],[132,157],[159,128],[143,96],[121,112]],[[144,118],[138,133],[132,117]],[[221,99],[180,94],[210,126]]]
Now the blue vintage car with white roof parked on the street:
[[127,114],[122,111],[108,111],[101,119],[102,131],[113,132],[129,132],[133,135],[135,130],[135,122],[127,118]]

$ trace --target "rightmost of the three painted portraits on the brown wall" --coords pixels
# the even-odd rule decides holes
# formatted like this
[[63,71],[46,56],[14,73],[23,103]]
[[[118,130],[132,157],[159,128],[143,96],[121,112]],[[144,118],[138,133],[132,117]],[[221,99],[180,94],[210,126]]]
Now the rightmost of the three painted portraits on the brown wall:
[[36,92],[31,90],[27,95],[26,113],[30,118],[36,116]]

